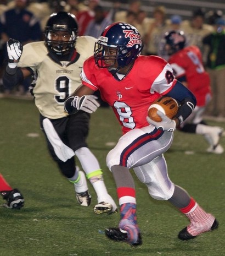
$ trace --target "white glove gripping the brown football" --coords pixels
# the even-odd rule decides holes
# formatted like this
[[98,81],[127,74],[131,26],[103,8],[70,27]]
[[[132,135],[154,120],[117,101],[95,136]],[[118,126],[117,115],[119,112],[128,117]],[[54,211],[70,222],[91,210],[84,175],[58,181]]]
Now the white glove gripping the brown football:
[[150,117],[146,117],[147,122],[155,126],[159,130],[166,130],[167,132],[173,132],[176,129],[176,122],[164,115],[161,111],[157,111],[158,115],[162,118],[161,122],[155,122]]

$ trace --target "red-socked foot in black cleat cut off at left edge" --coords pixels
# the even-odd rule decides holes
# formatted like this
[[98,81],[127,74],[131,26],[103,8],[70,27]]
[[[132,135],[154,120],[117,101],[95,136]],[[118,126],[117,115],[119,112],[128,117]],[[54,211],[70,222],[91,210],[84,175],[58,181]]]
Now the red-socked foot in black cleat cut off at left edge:
[[20,209],[24,206],[24,197],[17,188],[12,188],[0,173],[0,194],[7,203],[6,208]]

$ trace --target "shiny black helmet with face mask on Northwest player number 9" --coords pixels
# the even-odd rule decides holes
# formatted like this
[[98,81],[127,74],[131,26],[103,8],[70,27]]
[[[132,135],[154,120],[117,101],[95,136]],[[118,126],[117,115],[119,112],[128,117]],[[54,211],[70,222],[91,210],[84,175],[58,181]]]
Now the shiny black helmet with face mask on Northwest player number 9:
[[[66,31],[70,34],[69,41],[53,41],[51,33]],[[67,12],[58,12],[50,15],[45,28],[45,43],[49,51],[63,55],[74,48],[78,34],[78,25],[75,15]]]

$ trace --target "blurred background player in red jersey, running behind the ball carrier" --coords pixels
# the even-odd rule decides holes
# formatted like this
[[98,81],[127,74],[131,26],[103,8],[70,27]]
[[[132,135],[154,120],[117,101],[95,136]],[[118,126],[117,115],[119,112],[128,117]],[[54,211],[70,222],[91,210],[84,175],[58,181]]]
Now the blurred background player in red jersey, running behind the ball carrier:
[[205,137],[209,148],[207,152],[222,154],[219,144],[223,128],[208,126],[203,120],[205,108],[211,100],[210,76],[205,71],[200,49],[197,46],[185,46],[183,31],[170,31],[165,35],[165,52],[169,56],[168,63],[173,68],[176,78],[193,92],[196,107],[192,114],[181,124],[182,132],[201,134]]

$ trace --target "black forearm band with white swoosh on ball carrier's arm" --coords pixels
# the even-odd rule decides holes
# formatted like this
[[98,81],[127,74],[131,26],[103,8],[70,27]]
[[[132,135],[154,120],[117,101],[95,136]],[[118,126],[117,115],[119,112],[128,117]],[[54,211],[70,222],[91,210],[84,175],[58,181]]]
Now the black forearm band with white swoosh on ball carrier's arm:
[[180,123],[190,116],[196,106],[196,99],[195,98],[185,98],[181,105],[179,106],[178,112],[176,117],[179,119]]

